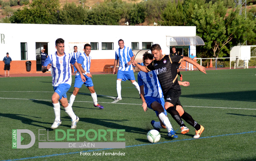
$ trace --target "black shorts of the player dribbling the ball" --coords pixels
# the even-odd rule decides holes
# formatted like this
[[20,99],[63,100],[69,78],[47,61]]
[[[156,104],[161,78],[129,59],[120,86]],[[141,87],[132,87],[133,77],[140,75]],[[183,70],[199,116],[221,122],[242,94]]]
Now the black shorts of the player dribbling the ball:
[[181,105],[179,100],[181,95],[181,89],[169,89],[167,93],[164,94],[165,102],[170,102],[174,106]]

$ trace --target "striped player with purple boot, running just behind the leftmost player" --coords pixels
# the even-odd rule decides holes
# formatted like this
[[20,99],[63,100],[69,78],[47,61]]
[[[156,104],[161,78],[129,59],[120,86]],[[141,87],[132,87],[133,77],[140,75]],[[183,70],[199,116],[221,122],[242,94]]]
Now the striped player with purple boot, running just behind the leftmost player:
[[[104,109],[103,106],[98,104],[97,101],[97,95],[94,90],[94,84],[92,83],[92,75],[90,74],[90,67],[91,67],[91,56],[89,56],[91,53],[91,45],[85,44],[84,45],[84,53],[78,57],[78,65],[80,67],[81,72],[77,72],[75,76],[75,85],[74,85],[74,91],[73,94],[71,94],[69,99],[70,106],[73,105],[76,95],[79,92],[79,89],[84,84],[91,92],[92,100],[94,101],[94,106],[98,107],[100,109]],[[82,74],[81,74],[82,73]],[[86,82],[83,82],[80,75],[84,75],[86,78]]]

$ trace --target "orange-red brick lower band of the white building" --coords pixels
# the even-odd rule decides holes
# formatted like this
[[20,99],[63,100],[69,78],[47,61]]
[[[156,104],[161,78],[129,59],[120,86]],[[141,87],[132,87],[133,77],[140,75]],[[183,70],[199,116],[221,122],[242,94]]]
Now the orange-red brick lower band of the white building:
[[[37,73],[36,72],[36,60],[31,60],[31,71],[26,71],[26,61],[18,60],[11,62],[10,74],[23,74],[23,73]],[[105,66],[114,66],[114,59],[98,59],[91,60],[91,72],[104,72]],[[0,74],[4,74],[4,62],[0,62]]]

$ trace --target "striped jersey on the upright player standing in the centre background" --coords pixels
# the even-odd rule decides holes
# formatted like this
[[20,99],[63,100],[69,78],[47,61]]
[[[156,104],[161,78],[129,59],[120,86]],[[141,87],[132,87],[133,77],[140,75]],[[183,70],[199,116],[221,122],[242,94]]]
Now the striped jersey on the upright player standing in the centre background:
[[133,57],[133,52],[132,49],[130,49],[129,47],[126,48],[126,46],[124,46],[123,49],[117,49],[116,50],[116,60],[119,59],[119,68],[118,70],[121,71],[131,71],[133,70],[132,68],[132,64],[128,65],[127,63],[130,61],[131,57]]

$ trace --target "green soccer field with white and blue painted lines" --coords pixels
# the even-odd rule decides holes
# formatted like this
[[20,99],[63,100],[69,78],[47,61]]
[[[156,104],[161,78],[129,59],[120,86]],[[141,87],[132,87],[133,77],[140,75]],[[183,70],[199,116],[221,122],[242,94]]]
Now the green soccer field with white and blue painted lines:
[[[253,161],[256,160],[256,69],[212,70],[203,74],[199,71],[181,71],[183,81],[190,86],[181,87],[180,97],[183,109],[199,124],[204,126],[201,138],[194,139],[195,130],[185,122],[190,132],[182,135],[180,127],[168,113],[169,120],[177,130],[177,139],[167,137],[167,130],[161,129],[161,139],[151,144],[146,134],[152,126],[151,120],[158,120],[153,110],[143,111],[137,89],[130,81],[122,82],[122,100],[113,101],[116,93],[116,75],[93,75],[98,103],[105,109],[93,106],[89,90],[82,87],[73,104],[75,114],[80,118],[76,131],[56,141],[55,130],[50,129],[54,121],[51,101],[53,87],[51,77],[0,78],[0,160],[209,160],[209,161]],[[137,78],[137,73],[135,73]],[[68,100],[73,92],[72,85],[67,93]],[[62,124],[57,128],[68,132],[71,119],[61,106]],[[28,149],[12,149],[12,129],[28,129],[35,135],[35,143]],[[45,135],[39,135],[40,134]],[[124,129],[118,140],[117,133],[106,134],[106,141],[77,140],[77,130],[85,132],[94,129]],[[47,133],[48,130],[48,133]],[[48,134],[48,135],[47,135]],[[27,145],[31,137],[21,134]],[[88,134],[93,138],[94,133]],[[58,138],[64,137],[58,133]],[[113,138],[111,140],[111,138]],[[49,141],[48,141],[49,140]],[[50,141],[54,140],[54,141]],[[111,148],[38,148],[40,142],[125,142],[122,149]],[[80,155],[83,152],[87,155]],[[93,154],[117,153],[117,155]],[[118,155],[118,153],[125,153]],[[120,154],[119,153],[119,154]],[[88,155],[91,154],[91,155]]]

